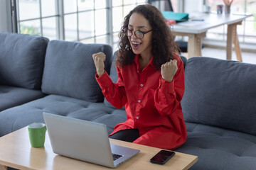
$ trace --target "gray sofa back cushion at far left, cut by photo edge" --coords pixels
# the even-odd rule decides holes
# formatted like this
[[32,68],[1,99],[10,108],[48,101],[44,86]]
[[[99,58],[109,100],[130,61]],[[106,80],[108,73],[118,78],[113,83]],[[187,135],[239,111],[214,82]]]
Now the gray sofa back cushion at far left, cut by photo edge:
[[0,32],[0,84],[41,89],[48,39]]

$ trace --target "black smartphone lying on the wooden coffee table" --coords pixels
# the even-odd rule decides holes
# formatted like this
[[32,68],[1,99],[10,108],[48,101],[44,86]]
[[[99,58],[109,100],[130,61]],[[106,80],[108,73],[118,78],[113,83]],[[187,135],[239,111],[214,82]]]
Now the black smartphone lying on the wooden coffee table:
[[154,157],[150,159],[154,164],[165,164],[171,157],[174,157],[175,152],[161,150]]

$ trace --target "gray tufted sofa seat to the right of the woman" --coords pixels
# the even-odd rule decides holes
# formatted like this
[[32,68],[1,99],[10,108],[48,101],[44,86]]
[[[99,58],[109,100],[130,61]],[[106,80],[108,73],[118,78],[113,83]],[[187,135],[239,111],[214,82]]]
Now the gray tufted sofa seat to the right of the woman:
[[190,169],[255,169],[256,137],[243,132],[186,123],[187,140],[177,152],[198,156]]

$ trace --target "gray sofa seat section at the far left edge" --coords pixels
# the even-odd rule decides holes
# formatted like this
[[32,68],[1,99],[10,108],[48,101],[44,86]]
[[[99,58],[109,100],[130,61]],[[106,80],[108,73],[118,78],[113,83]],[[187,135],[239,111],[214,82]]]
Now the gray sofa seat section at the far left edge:
[[14,86],[0,86],[0,111],[27,103],[45,95],[38,90]]

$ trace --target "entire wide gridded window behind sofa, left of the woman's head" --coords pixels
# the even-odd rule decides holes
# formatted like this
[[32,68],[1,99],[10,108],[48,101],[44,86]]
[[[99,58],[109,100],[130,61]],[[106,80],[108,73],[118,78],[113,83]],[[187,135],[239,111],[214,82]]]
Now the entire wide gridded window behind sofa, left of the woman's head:
[[105,43],[117,50],[124,16],[146,0],[16,0],[18,33]]

